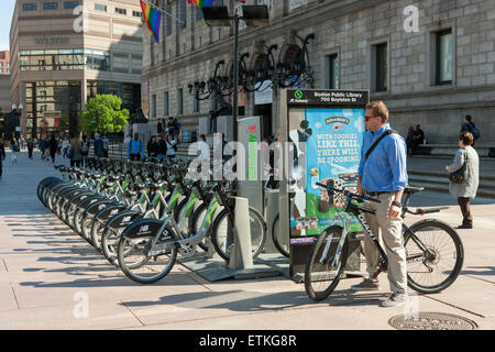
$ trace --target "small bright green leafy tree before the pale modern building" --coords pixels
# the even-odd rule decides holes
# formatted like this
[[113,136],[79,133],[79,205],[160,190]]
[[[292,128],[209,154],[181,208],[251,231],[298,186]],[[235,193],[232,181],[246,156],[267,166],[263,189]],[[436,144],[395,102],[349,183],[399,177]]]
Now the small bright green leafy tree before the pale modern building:
[[121,109],[122,99],[113,95],[90,98],[80,113],[80,128],[86,133],[122,132],[128,124],[129,110]]

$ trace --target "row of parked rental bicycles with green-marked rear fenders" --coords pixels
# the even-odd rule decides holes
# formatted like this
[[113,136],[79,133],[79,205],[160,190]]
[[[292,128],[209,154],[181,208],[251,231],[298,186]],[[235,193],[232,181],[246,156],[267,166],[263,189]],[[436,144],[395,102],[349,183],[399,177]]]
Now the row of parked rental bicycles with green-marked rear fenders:
[[[62,221],[134,282],[165,277],[177,254],[197,248],[229,262],[234,242],[235,183],[205,183],[187,177],[185,160],[88,158],[85,168],[55,165],[59,177],[37,186],[40,200]],[[263,216],[249,209],[252,255],[264,249]]]

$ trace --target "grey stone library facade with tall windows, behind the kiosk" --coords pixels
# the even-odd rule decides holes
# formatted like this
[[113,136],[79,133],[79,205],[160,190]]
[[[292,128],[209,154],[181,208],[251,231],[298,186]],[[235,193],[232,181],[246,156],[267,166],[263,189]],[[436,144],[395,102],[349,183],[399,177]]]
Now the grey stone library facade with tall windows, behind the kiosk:
[[[233,12],[239,1],[217,1]],[[420,124],[429,144],[455,144],[470,113],[481,143],[495,141],[495,0],[248,0],[270,6],[270,28],[240,31],[240,55],[248,63],[277,44],[284,61],[288,44],[309,41],[314,88],[370,89],[384,100],[391,124],[403,135]],[[165,20],[161,43],[143,32],[143,108],[152,121],[174,117],[198,131],[215,110],[213,99],[195,101],[188,86],[207,81],[216,64],[233,58],[233,29],[209,28],[186,1],[156,1],[185,20]],[[280,55],[280,52],[282,55]],[[229,67],[229,64],[222,67]],[[309,85],[307,85],[309,87]],[[245,95],[240,114],[265,116],[265,134],[279,127],[279,89],[261,107]],[[226,99],[228,100],[228,99]]]

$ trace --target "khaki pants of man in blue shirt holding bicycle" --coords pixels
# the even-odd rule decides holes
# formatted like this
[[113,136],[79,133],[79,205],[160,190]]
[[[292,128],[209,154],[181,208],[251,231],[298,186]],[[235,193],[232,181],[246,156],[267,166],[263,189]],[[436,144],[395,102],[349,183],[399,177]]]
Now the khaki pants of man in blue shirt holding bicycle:
[[[370,201],[366,205],[369,209],[376,211],[376,215],[365,213],[366,222],[387,254],[391,290],[393,293],[405,294],[407,293],[407,274],[403,219],[400,218],[400,215],[397,218],[391,220],[387,219],[388,210],[395,198],[393,193],[381,194],[377,198],[380,198],[382,202]],[[366,256],[366,271],[371,276],[376,272],[380,255],[372,240],[367,235],[364,235],[364,255]]]

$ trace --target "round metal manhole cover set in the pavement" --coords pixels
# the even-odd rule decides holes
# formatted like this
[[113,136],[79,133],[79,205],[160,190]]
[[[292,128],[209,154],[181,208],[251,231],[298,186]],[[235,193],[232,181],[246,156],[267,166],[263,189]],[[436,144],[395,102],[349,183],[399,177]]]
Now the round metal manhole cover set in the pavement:
[[395,316],[388,323],[398,330],[475,330],[477,324],[464,317],[444,312],[418,312],[417,316]]

